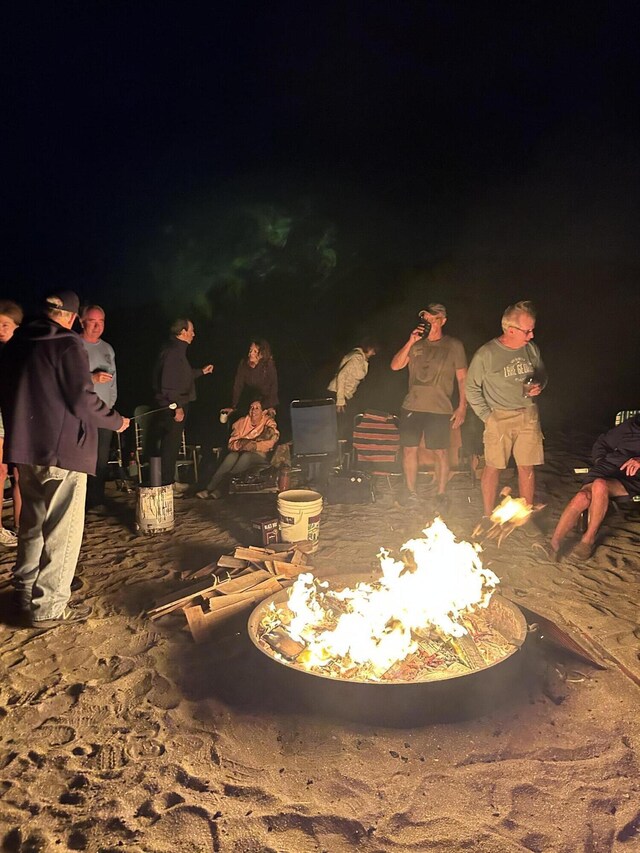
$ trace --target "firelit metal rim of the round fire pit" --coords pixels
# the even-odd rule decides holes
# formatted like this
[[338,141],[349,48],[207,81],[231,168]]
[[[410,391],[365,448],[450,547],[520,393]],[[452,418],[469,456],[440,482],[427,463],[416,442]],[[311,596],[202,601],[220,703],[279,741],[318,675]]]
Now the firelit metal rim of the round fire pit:
[[[325,578],[329,582],[329,586],[333,590],[342,590],[345,587],[354,587],[358,583],[371,583],[376,580],[376,577],[372,575],[365,574],[348,574],[348,575],[336,575],[334,577]],[[279,663],[282,666],[286,666],[289,669],[293,669],[296,672],[301,672],[306,675],[313,675],[316,678],[324,678],[327,681],[332,682],[342,682],[349,684],[381,684],[381,685],[398,685],[398,684],[438,684],[443,681],[450,681],[455,678],[464,678],[468,675],[474,675],[479,672],[483,672],[484,670],[491,669],[504,661],[508,660],[513,654],[519,651],[520,647],[524,643],[527,636],[527,623],[524,618],[522,611],[512,602],[509,601],[508,598],[504,598],[504,596],[499,595],[498,593],[494,593],[491,596],[491,601],[487,608],[487,612],[491,613],[492,616],[492,626],[500,631],[500,633],[508,640],[511,644],[511,647],[507,654],[503,655],[501,658],[493,661],[492,663],[485,664],[484,666],[477,667],[476,669],[469,670],[468,672],[443,672],[434,675],[432,672],[429,673],[428,678],[415,678],[411,680],[405,680],[400,678],[394,679],[383,679],[380,681],[376,681],[373,679],[367,678],[342,678],[335,675],[326,675],[323,672],[316,672],[312,669],[306,669],[299,664],[296,664],[295,661],[288,661],[283,657],[276,656],[274,650],[267,643],[263,642],[260,639],[259,635],[259,627],[263,618],[267,615],[267,611],[273,603],[276,607],[279,607],[286,603],[289,598],[289,590],[287,589],[280,590],[276,592],[274,595],[269,596],[269,598],[265,598],[264,601],[261,601],[260,604],[255,607],[249,616],[249,620],[247,623],[247,629],[249,631],[249,637],[251,638],[251,642],[254,646],[262,652],[266,657],[275,663]]]

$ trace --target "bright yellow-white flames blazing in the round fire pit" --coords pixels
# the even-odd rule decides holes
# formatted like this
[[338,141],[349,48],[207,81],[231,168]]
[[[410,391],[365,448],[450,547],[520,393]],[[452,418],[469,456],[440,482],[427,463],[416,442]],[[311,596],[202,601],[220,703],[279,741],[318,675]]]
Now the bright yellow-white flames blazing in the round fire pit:
[[[337,665],[340,673],[364,668],[374,681],[419,651],[430,660],[446,658],[434,638],[448,648],[456,638],[468,644],[469,620],[487,607],[499,579],[483,567],[480,546],[457,541],[442,519],[423,534],[402,546],[402,560],[382,549],[382,577],[373,583],[335,591],[327,581],[300,575],[287,609],[272,604],[262,621],[267,642],[278,651],[274,630],[284,630],[283,654],[296,665],[316,671]],[[471,656],[482,664],[473,646]]]

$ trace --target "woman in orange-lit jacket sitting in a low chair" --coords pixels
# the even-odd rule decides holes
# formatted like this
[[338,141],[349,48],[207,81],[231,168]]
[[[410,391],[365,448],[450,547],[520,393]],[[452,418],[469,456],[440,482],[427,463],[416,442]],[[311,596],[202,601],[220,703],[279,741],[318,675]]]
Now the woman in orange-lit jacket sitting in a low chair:
[[254,400],[249,406],[249,414],[238,418],[231,430],[229,453],[209,481],[207,488],[198,492],[198,497],[217,500],[222,497],[219,487],[231,477],[244,474],[252,468],[261,468],[269,464],[267,454],[278,443],[280,433],[276,422],[262,408],[261,400]]

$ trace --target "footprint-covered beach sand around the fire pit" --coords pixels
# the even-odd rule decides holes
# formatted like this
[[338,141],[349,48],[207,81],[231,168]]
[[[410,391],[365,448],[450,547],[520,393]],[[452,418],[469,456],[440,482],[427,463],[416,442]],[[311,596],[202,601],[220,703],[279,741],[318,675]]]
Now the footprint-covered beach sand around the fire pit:
[[[561,442],[539,475],[552,526],[576,489]],[[515,531],[483,560],[501,592],[577,626],[597,669],[530,633],[517,670],[462,719],[408,726],[345,719],[309,704],[252,646],[246,618],[195,645],[181,612],[145,609],[197,569],[252,541],[273,495],[176,501],[176,528],[134,532],[135,498],[87,518],[77,598],[85,625],[48,632],[11,613],[13,554],[0,553],[0,849],[15,853],[631,851],[640,846],[640,512],[611,514],[591,560],[559,564]],[[451,483],[445,520],[469,538],[479,488]],[[433,517],[388,495],[327,506],[318,574],[368,572]],[[530,619],[531,621],[535,621]],[[318,679],[312,679],[318,681]],[[283,686],[284,685],[284,686]],[[298,685],[300,689],[298,690]],[[394,690],[390,686],[389,690]],[[416,701],[416,700],[412,700]],[[475,700],[474,700],[475,701]]]

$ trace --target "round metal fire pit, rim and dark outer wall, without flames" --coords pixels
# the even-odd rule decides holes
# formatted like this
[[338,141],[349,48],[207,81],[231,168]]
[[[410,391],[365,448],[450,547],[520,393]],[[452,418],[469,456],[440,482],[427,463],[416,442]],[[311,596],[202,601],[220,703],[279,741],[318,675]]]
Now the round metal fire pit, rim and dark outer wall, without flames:
[[[327,580],[331,589],[341,590],[361,582],[370,583],[376,577],[349,574]],[[519,658],[514,655],[526,639],[527,624],[516,605],[500,595],[494,593],[486,613],[492,626],[511,643],[506,655],[469,672],[445,672],[434,677],[428,671],[424,678],[411,681],[340,678],[307,670],[295,660],[277,657],[271,646],[260,639],[259,628],[269,605],[273,602],[276,607],[286,606],[288,597],[285,589],[261,602],[249,617],[249,636],[263,655],[278,664],[277,670],[272,672],[283,679],[283,689],[305,694],[313,710],[371,723],[408,725],[428,719],[451,720],[486,713],[496,702],[513,698],[512,676],[516,667],[513,661]],[[507,664],[509,658],[512,658],[511,665]]]

